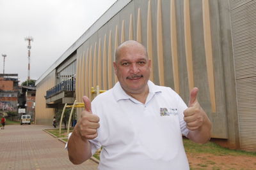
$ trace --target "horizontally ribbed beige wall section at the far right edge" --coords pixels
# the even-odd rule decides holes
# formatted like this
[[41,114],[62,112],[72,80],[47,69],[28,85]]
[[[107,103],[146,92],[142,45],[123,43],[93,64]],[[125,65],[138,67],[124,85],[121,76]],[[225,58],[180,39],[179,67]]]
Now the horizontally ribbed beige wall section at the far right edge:
[[256,1],[230,0],[240,145],[256,151]]

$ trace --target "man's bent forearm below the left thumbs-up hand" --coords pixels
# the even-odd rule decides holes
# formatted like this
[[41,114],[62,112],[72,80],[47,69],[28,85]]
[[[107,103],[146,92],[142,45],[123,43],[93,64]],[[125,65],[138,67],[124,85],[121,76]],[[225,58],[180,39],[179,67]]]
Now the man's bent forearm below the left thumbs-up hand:
[[76,127],[68,139],[68,157],[73,164],[82,164],[92,157],[90,142],[81,138]]

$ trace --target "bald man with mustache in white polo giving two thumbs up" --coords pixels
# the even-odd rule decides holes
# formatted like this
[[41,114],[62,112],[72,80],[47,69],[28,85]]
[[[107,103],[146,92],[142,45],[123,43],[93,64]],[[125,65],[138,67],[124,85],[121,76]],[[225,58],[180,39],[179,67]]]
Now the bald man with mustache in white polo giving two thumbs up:
[[[196,143],[211,136],[211,122],[191,90],[186,106],[170,87],[149,80],[145,46],[125,41],[113,62],[118,82],[95,97],[68,139],[68,157],[81,164],[102,147],[99,169],[189,169],[182,135]],[[91,107],[92,106],[92,107]]]

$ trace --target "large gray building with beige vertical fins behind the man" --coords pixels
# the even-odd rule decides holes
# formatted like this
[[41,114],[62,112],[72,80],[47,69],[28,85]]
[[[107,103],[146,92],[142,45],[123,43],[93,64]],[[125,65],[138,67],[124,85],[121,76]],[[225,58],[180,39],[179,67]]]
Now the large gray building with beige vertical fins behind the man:
[[[52,124],[65,103],[115,85],[115,49],[128,39],[147,47],[150,80],[184,101],[198,100],[212,138],[256,151],[256,1],[119,0],[36,81],[36,124]],[[81,110],[77,110],[77,115]]]

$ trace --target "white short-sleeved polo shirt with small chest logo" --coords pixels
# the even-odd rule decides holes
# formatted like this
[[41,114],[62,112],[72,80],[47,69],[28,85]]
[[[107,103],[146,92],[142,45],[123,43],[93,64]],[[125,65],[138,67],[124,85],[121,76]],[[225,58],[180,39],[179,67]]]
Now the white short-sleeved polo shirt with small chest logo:
[[189,169],[182,134],[186,104],[169,87],[148,81],[145,104],[128,96],[120,83],[95,97],[92,112],[100,118],[92,154],[102,146],[99,169]]

